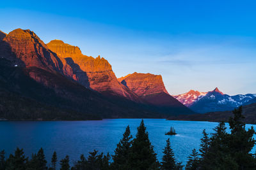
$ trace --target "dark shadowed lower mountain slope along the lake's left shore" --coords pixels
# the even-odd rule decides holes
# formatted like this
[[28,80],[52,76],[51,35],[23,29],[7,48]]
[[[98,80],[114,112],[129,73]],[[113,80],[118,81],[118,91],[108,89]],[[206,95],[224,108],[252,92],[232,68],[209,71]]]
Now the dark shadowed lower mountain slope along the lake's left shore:
[[0,59],[0,63],[1,94],[13,96],[1,96],[1,118],[86,120],[163,116],[132,101],[102,96],[60,73],[38,67],[15,67],[5,59]]

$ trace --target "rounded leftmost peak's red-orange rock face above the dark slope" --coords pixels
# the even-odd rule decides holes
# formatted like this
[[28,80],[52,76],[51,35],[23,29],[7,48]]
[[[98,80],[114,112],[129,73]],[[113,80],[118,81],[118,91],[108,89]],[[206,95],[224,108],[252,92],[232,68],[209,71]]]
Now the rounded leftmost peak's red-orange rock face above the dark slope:
[[52,53],[33,31],[15,29],[10,32],[0,43],[0,56],[11,60],[13,66],[38,67],[74,78],[66,60]]

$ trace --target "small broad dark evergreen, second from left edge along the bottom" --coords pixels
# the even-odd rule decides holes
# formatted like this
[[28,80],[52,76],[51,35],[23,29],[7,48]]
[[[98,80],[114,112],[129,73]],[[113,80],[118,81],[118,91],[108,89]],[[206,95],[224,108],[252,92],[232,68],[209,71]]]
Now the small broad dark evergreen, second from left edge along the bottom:
[[28,158],[25,157],[23,149],[17,148],[15,154],[10,154],[10,157],[6,160],[6,170],[24,170],[27,162]]

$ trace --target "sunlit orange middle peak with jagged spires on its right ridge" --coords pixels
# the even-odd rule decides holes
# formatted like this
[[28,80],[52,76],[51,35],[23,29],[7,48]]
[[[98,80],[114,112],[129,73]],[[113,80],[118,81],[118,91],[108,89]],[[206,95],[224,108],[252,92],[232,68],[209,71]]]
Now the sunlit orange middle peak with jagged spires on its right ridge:
[[[67,60],[75,74],[77,71],[86,74],[91,89],[103,94],[123,96],[133,101],[140,101],[136,94],[118,82],[111,65],[103,57],[93,58],[83,55],[77,46],[68,45],[61,40],[52,40],[47,46],[52,52]],[[77,71],[74,70],[74,66]]]

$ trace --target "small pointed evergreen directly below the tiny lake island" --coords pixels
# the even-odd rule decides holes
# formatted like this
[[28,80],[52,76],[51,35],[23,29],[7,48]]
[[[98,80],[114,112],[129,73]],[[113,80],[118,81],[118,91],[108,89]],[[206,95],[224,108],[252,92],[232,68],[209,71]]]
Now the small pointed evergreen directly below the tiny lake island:
[[166,140],[166,146],[164,147],[163,151],[163,159],[161,162],[161,169],[163,170],[170,170],[170,169],[182,169],[180,163],[176,163],[173,150],[171,148],[170,139]]

